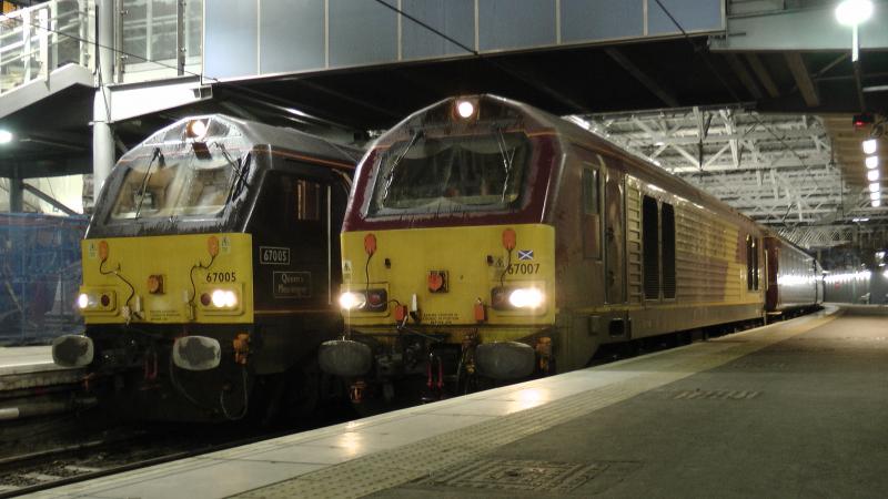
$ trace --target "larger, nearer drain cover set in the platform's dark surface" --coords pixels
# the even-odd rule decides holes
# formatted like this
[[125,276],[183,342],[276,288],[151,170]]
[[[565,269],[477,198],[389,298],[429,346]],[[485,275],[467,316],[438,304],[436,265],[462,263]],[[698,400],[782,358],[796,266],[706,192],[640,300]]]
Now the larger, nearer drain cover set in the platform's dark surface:
[[418,480],[422,485],[567,492],[607,469],[603,462],[478,459]]

